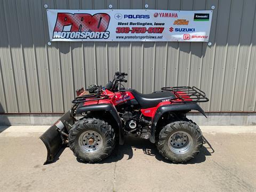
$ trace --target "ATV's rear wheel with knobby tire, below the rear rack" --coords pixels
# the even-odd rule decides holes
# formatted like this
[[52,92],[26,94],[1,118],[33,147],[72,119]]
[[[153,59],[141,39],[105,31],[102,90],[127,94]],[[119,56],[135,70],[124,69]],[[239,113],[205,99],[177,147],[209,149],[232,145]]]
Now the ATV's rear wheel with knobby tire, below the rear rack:
[[202,145],[201,130],[188,120],[166,124],[159,133],[157,149],[167,160],[182,163],[194,158]]

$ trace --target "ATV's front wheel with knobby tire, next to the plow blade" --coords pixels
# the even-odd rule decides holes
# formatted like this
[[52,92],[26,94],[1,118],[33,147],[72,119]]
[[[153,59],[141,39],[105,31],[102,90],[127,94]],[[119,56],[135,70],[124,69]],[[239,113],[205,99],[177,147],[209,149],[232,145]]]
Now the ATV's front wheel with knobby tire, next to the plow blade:
[[84,162],[100,162],[115,147],[115,131],[99,118],[84,118],[76,122],[69,132],[69,147]]

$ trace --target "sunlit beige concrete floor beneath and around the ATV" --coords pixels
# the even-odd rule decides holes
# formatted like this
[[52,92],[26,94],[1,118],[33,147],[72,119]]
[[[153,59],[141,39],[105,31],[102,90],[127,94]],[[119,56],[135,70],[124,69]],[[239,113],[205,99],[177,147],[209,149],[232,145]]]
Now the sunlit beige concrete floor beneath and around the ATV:
[[40,130],[9,129],[0,129],[0,191],[256,191],[254,128],[205,131],[209,143],[186,164],[166,162],[147,140],[126,138],[101,163],[78,162],[66,148],[48,165]]

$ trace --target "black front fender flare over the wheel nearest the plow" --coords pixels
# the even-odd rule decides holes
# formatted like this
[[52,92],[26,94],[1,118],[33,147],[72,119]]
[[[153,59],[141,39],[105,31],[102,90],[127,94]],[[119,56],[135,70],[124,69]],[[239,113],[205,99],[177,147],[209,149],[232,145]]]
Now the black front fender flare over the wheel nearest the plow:
[[124,131],[123,131],[123,125],[121,122],[121,119],[117,113],[116,108],[111,103],[102,103],[97,105],[86,105],[82,107],[78,107],[76,110],[77,114],[82,114],[83,112],[87,111],[108,111],[111,116],[115,119],[118,130],[119,130],[119,145],[124,144]]

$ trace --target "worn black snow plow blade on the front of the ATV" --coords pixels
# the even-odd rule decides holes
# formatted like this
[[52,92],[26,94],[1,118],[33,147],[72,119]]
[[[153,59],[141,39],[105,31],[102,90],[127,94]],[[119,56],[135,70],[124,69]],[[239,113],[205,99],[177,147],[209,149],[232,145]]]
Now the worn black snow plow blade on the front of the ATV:
[[64,142],[65,139],[63,138],[67,138],[67,130],[69,130],[69,126],[74,123],[75,118],[70,115],[69,110],[39,137],[39,139],[44,142],[47,149],[47,159],[44,164],[53,162],[55,156],[66,146]]

